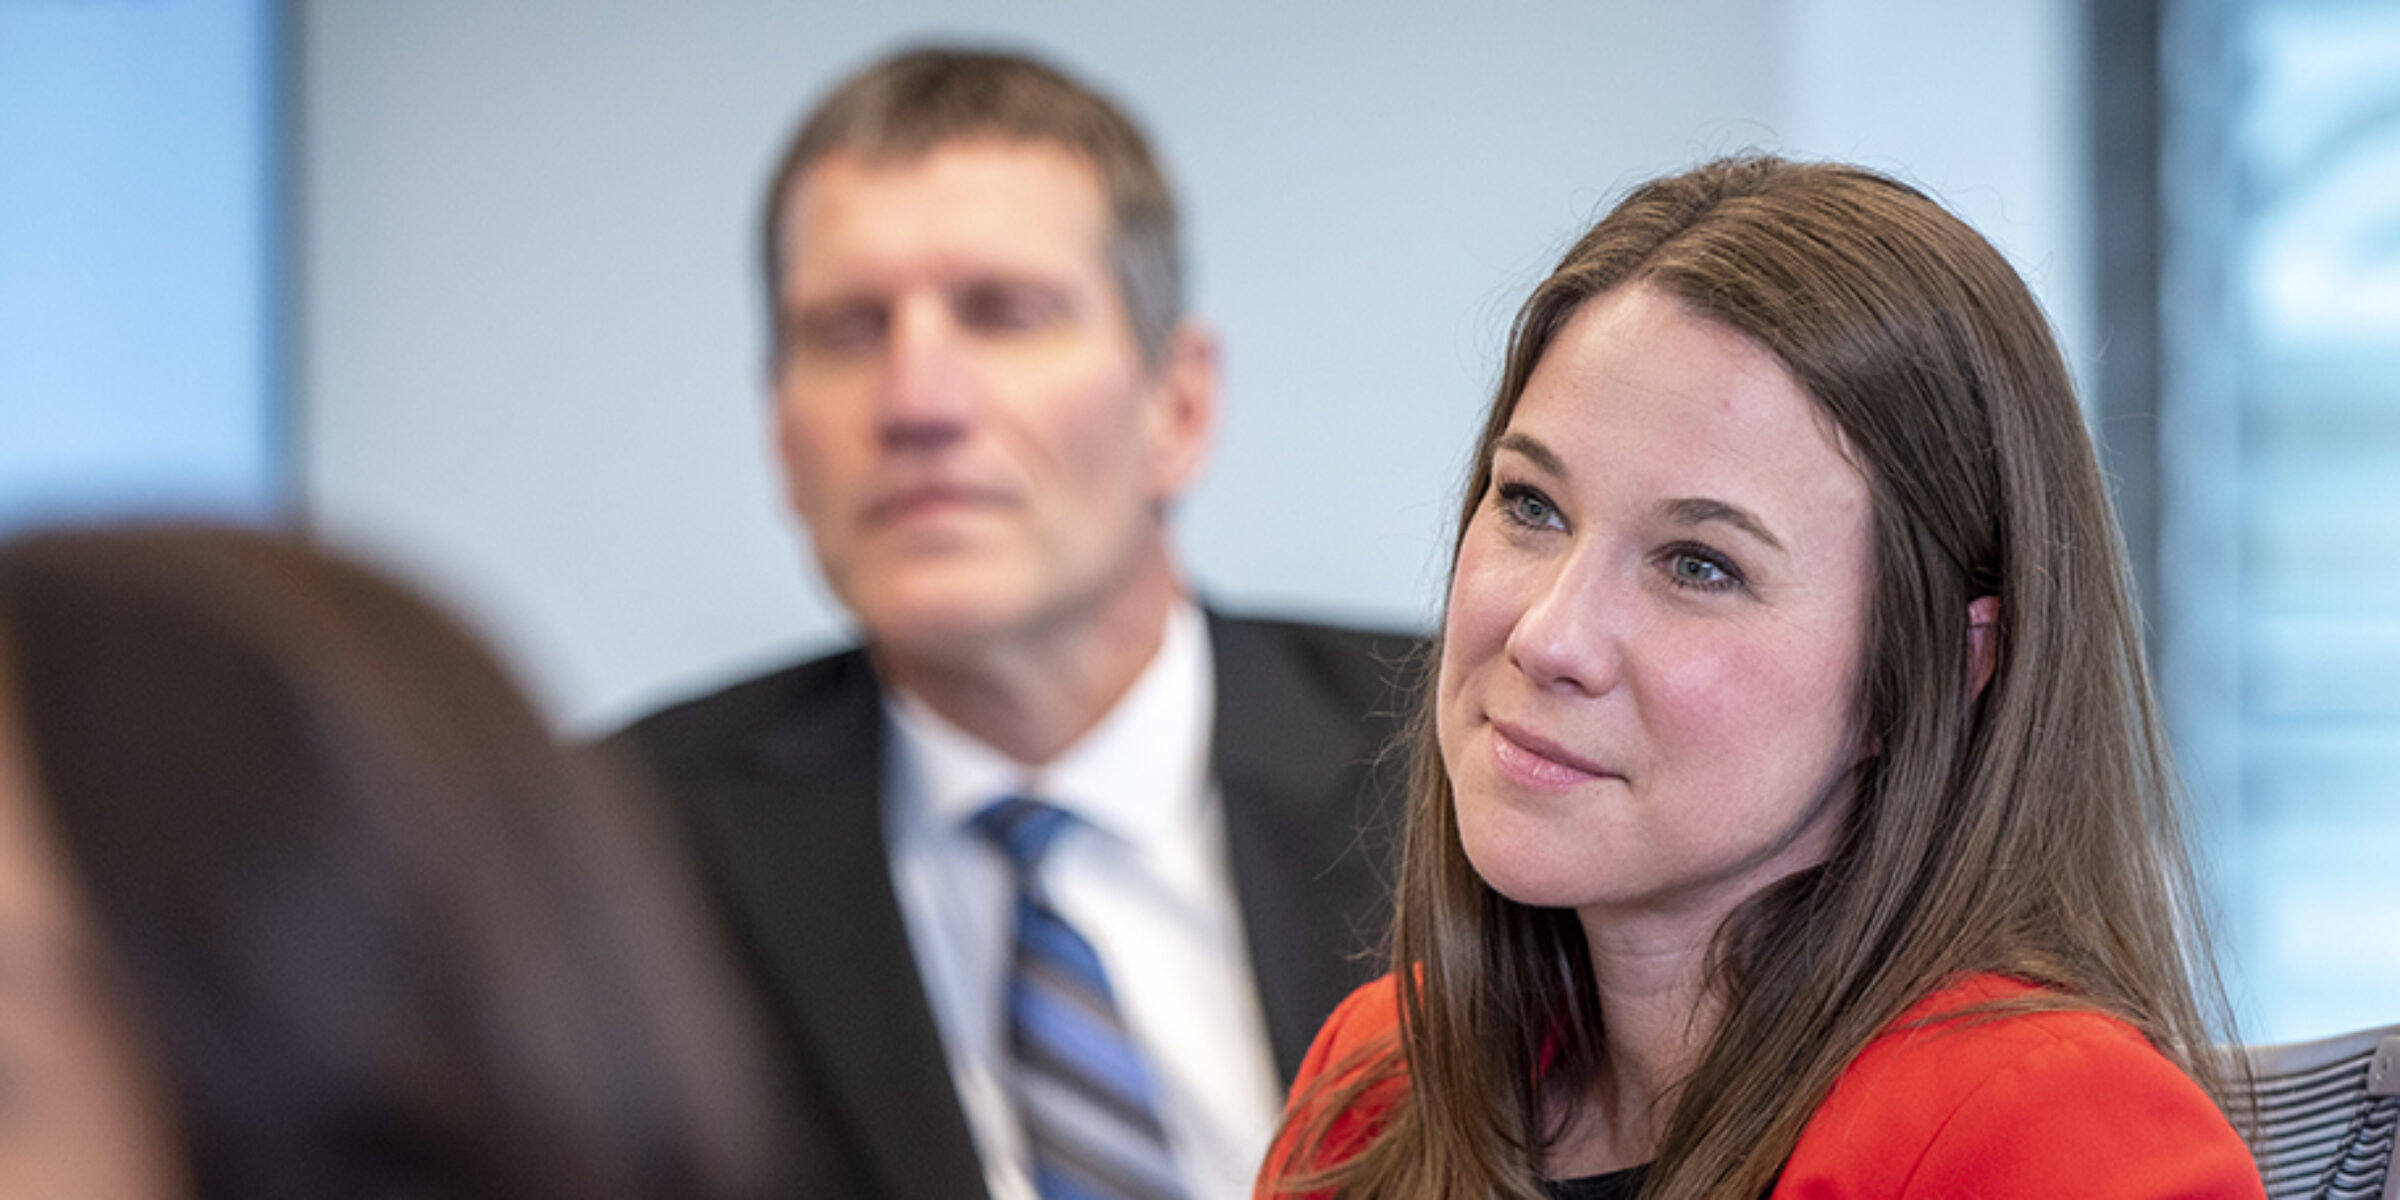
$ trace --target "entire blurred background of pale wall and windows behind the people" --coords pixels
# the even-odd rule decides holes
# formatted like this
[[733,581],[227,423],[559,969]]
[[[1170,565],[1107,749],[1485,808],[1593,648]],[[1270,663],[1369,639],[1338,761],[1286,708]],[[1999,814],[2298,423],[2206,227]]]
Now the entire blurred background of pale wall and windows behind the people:
[[2400,1020],[2400,5],[0,0],[0,533],[298,521],[598,732],[845,636],[766,442],[758,192],[840,72],[1030,48],[1181,185],[1202,593],[1426,626],[1507,317],[1769,149],[1985,230],[2117,485],[2242,1034]]

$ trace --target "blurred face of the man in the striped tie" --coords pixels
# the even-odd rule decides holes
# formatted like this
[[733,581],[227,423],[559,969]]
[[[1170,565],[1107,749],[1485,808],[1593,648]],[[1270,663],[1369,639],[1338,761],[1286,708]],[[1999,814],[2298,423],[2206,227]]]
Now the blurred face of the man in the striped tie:
[[782,204],[782,466],[866,638],[962,665],[1111,612],[1164,557],[1212,377],[1188,331],[1142,362],[1092,163],[838,151]]

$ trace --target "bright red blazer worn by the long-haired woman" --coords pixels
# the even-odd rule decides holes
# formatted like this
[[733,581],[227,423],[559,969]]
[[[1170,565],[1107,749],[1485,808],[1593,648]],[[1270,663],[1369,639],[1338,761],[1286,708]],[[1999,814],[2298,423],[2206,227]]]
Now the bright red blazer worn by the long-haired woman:
[[[1973,977],[1913,1006],[1834,1080],[1800,1130],[1774,1200],[1850,1198],[2242,1198],[2258,1200],[2249,1147],[2191,1078],[2131,1025],[2098,1013],[2028,1013],[1910,1027],[2026,984]],[[1291,1085],[1399,1030],[1392,979],[1342,1001]],[[1404,1082],[1334,1118],[1325,1154],[1358,1152]],[[1258,1200],[1294,1171],[1294,1130],[1267,1152]]]

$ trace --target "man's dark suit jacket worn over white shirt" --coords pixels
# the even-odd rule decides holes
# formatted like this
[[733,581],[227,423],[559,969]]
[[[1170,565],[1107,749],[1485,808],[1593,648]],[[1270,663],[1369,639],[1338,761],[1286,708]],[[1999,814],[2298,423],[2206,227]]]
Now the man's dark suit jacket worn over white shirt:
[[[1212,766],[1284,1082],[1380,972],[1414,638],[1210,614]],[[655,713],[650,766],[766,1003],[797,1116],[794,1198],[984,1195],[883,842],[883,710],[859,650]]]

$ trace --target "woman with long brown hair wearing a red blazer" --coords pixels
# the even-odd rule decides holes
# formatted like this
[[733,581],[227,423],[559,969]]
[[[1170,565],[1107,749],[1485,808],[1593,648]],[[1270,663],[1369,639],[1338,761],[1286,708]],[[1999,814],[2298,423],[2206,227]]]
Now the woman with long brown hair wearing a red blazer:
[[1843,166],[1651,182],[1474,463],[1392,977],[1260,1195],[2261,1195],[2107,497],[1982,238]]

